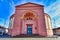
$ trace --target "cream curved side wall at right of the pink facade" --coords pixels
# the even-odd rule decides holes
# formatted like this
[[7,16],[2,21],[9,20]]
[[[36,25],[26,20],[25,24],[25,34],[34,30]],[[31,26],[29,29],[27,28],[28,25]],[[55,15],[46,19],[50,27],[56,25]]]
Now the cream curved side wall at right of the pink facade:
[[53,36],[51,19],[50,19],[50,16],[48,14],[45,14],[45,22],[46,22],[47,36]]

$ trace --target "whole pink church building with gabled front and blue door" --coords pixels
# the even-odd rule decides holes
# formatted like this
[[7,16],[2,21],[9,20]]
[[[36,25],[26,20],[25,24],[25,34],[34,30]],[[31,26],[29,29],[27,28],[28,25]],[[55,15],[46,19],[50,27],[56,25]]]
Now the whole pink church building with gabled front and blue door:
[[8,34],[53,36],[51,18],[44,13],[43,5],[31,2],[18,5],[15,13],[10,17]]

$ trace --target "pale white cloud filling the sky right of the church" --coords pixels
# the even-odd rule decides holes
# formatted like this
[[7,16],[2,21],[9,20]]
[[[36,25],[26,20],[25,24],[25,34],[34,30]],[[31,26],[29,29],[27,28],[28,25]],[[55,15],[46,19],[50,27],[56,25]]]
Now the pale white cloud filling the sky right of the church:
[[[56,22],[56,27],[60,27],[60,0],[57,0],[55,3],[51,4],[44,10],[47,14],[51,16],[51,18],[55,18]],[[52,20],[52,26],[54,27],[54,20]]]

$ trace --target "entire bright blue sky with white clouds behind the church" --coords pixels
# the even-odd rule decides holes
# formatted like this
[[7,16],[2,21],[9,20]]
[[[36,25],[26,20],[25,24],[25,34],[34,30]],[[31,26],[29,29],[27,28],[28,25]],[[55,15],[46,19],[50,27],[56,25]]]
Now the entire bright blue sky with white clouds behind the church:
[[0,25],[8,28],[15,7],[27,2],[44,5],[44,12],[51,16],[52,27],[60,27],[60,0],[0,0]]

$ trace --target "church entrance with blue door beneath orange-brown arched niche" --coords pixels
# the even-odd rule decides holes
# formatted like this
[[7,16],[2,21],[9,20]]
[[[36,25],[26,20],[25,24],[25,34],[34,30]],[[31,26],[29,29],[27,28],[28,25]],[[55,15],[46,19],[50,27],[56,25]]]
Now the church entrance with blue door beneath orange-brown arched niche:
[[25,25],[27,26],[27,35],[32,35],[33,32],[33,21],[36,19],[35,15],[31,12],[27,12],[24,15]]

